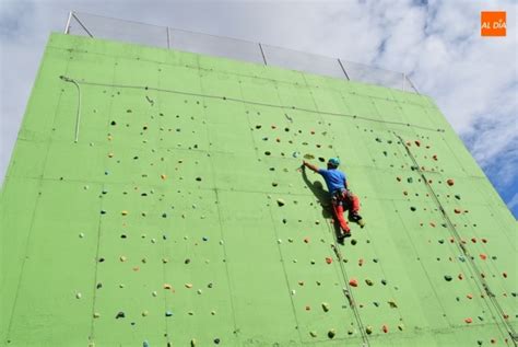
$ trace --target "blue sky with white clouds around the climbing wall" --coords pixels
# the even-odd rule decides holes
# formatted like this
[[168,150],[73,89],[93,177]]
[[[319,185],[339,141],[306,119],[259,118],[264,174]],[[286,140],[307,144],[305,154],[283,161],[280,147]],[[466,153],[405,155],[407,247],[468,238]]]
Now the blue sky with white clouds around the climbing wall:
[[[407,72],[518,216],[518,4],[513,0],[0,0],[0,180],[52,31],[69,10],[261,42]],[[480,12],[507,12],[481,37]]]

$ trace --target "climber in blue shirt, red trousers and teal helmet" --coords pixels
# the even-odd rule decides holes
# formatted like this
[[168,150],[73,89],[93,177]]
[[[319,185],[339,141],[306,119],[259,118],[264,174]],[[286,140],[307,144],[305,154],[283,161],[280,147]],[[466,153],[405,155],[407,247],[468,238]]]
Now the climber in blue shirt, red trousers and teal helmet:
[[356,195],[352,194],[348,188],[348,180],[345,174],[338,170],[340,160],[338,158],[330,158],[327,164],[327,170],[318,169],[311,163],[303,161],[303,169],[309,167],[315,173],[320,174],[326,181],[329,194],[331,196],[331,204],[335,218],[340,223],[339,241],[344,238],[351,236],[351,228],[349,228],[348,221],[343,218],[344,210],[349,210],[349,220],[357,223],[361,228],[365,227],[365,221],[358,215],[360,212],[360,199]]

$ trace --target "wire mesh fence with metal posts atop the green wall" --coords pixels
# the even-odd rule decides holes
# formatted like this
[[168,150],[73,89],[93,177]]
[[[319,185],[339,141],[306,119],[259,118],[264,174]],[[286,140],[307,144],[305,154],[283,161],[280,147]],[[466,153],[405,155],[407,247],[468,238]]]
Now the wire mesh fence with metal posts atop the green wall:
[[401,72],[247,41],[70,12],[66,34],[205,54],[419,93]]

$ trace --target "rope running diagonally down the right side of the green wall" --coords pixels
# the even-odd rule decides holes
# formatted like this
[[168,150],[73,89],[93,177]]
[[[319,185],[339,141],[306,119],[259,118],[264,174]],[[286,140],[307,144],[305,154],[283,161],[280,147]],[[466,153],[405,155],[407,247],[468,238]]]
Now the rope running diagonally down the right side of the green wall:
[[471,254],[469,253],[467,247],[462,244],[462,239],[460,238],[460,234],[457,231],[457,228],[451,222],[448,213],[446,212],[445,208],[443,207],[443,204],[440,204],[440,200],[438,199],[437,195],[435,194],[434,188],[432,188],[431,184],[428,183],[428,180],[424,175],[423,171],[420,169],[421,166],[419,165],[415,157],[412,154],[410,149],[404,144],[404,140],[398,134],[396,134],[396,131],[392,131],[392,132],[399,139],[401,146],[404,147],[407,153],[409,154],[410,159],[412,160],[412,162],[414,164],[415,170],[417,171],[417,173],[423,178],[423,183],[425,184],[425,186],[428,189],[431,196],[433,197],[434,203],[437,205],[438,210],[440,211],[444,220],[446,221],[446,224],[448,225],[448,230],[450,231],[450,233],[456,239],[456,241],[457,241],[456,243],[460,247],[462,254],[464,255],[464,258],[468,259],[468,264],[470,264],[470,266],[471,266],[471,271],[474,273],[475,278],[479,280],[480,286],[482,286],[483,291],[487,294],[487,298],[490,299],[490,302],[493,304],[496,312],[499,314],[501,321],[504,323],[504,325],[507,329],[507,333],[509,334],[511,340],[514,342],[514,344],[516,346],[517,345],[516,343],[518,342],[518,335],[516,334],[515,328],[513,327],[513,325],[505,320],[504,310],[502,309],[498,301],[496,300],[496,297],[495,297],[494,292],[491,290],[490,286],[487,285],[487,281],[482,277],[482,275],[481,275],[482,271],[479,269],[479,267],[474,263],[473,257],[471,256]]

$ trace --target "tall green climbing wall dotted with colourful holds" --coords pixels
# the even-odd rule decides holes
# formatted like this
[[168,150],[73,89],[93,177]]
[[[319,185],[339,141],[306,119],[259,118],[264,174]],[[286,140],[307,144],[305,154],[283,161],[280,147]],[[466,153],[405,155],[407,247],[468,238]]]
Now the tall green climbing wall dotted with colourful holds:
[[515,344],[516,221],[423,95],[52,34],[1,216],[8,346]]

